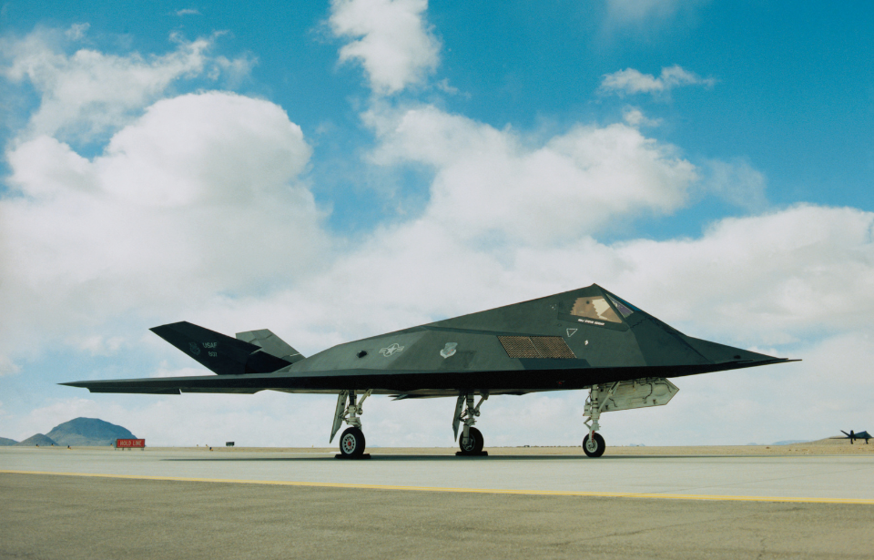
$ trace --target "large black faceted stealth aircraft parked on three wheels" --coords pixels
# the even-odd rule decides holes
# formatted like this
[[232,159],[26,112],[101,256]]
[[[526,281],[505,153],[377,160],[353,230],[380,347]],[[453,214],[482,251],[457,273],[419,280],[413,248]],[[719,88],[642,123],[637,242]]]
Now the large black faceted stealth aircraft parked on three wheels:
[[599,457],[601,412],[666,404],[678,391],[667,378],[790,361],[686,336],[596,284],[347,342],[310,358],[267,330],[234,339],[182,321],[152,331],[218,375],[63,384],[91,392],[337,394],[330,441],[349,424],[340,436],[343,457],[364,453],[361,406],[371,394],[457,398],[459,454],[483,454],[483,434],[473,425],[489,396],[587,390],[583,450]]

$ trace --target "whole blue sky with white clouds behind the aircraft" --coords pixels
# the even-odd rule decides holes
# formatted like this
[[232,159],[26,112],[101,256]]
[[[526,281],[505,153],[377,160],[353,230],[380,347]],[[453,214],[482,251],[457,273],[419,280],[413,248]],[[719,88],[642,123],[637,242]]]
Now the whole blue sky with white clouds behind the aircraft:
[[[690,335],[805,359],[680,380],[608,444],[863,429],[860,396],[829,397],[835,425],[798,402],[872,386],[872,16],[6,3],[0,435],[90,415],[166,443],[323,443],[323,397],[55,383],[198,373],[148,333],[164,322],[310,354],[593,281]],[[581,394],[508,399],[483,413],[491,441],[582,437]],[[451,444],[451,403],[372,407],[369,442]]]

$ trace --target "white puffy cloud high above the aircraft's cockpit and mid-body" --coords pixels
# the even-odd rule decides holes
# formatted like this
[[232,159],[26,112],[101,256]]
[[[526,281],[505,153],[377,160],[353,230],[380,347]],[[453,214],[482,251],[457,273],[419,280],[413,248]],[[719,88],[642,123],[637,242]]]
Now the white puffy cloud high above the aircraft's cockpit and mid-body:
[[459,239],[567,242],[620,217],[669,213],[696,179],[675,148],[621,124],[578,125],[532,146],[435,107],[365,119],[381,140],[374,162],[434,170],[427,219]]

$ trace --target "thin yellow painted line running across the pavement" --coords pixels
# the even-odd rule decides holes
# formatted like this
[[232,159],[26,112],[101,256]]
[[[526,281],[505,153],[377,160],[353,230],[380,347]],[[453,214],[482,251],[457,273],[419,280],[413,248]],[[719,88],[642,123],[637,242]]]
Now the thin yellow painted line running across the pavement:
[[5,474],[52,474],[55,476],[87,476],[122,478],[127,480],[160,480],[184,483],[270,484],[275,486],[310,486],[315,488],[355,488],[360,490],[412,490],[417,492],[453,492],[460,494],[516,494],[535,496],[578,496],[598,498],[661,498],[667,500],[725,500],[729,502],[791,502],[796,504],[861,504],[874,505],[866,498],[806,498],[791,496],[732,496],[717,494],[635,494],[629,492],[572,492],[564,490],[510,490],[495,488],[445,488],[439,486],[394,486],[390,484],[305,483],[278,480],[237,480],[225,478],[191,478],[187,476],[149,476],[146,474],[53,473],[51,471],[5,471]]

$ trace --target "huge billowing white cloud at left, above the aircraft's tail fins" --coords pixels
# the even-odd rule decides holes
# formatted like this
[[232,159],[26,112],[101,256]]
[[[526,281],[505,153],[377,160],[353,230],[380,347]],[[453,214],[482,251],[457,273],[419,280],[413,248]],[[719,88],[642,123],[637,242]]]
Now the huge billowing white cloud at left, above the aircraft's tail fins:
[[21,143],[0,199],[3,348],[317,268],[330,239],[299,180],[309,158],[280,107],[215,92],[159,101],[96,158]]

